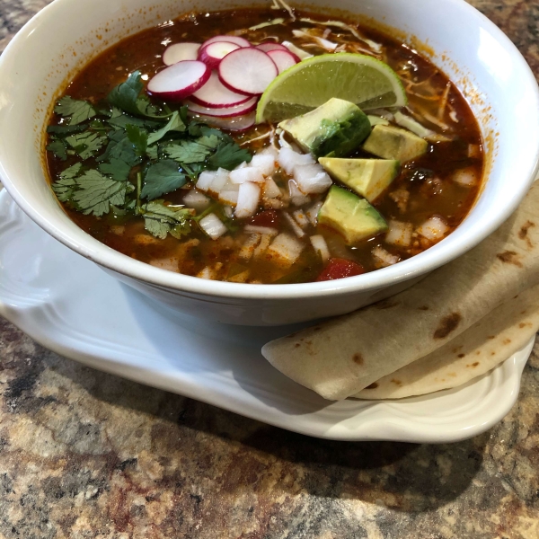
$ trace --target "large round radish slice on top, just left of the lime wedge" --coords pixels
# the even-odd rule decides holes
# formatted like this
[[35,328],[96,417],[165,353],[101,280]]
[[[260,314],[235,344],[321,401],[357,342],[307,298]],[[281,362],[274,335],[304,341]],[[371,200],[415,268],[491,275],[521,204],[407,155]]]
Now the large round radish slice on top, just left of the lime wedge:
[[234,50],[219,64],[221,82],[237,93],[263,93],[277,75],[275,62],[263,50],[254,47]]

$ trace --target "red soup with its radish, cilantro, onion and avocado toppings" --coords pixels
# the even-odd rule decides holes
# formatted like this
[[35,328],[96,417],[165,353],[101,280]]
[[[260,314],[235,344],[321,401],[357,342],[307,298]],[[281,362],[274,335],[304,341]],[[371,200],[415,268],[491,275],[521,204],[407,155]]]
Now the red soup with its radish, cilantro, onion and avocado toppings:
[[[323,74],[328,55],[383,61],[407,104],[268,106],[255,123],[268,93],[259,102],[268,82],[255,67],[272,58],[273,84],[304,63]],[[180,64],[179,83],[162,75]],[[329,134],[316,144],[304,137],[314,120]],[[410,258],[463,221],[483,166],[471,110],[426,58],[355,22],[270,9],[189,13],[119,42],[67,86],[48,137],[52,188],[85,232],[165,270],[242,283],[345,278]]]

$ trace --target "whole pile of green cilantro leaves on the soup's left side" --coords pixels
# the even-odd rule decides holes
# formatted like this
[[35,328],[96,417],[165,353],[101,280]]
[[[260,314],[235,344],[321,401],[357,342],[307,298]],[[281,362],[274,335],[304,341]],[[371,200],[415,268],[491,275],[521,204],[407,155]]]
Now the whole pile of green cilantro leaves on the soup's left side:
[[252,155],[223,131],[189,121],[185,107],[155,105],[143,89],[135,71],[104,102],[57,101],[47,150],[62,164],[52,188],[86,215],[130,213],[155,237],[179,238],[196,216],[163,197],[206,169],[232,170]]

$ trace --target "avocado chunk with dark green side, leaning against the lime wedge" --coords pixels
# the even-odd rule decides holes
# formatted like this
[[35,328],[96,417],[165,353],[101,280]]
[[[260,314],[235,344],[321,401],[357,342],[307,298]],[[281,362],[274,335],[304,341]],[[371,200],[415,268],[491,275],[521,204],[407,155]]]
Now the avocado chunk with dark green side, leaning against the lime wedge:
[[367,114],[354,103],[334,97],[302,116],[281,121],[278,127],[315,157],[347,155],[371,131]]

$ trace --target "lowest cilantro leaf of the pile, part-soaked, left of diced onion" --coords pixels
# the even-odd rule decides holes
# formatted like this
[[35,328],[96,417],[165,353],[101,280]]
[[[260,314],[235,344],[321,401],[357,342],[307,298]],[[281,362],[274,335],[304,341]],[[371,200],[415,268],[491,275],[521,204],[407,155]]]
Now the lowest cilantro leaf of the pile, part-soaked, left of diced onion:
[[186,208],[165,206],[162,199],[152,200],[140,209],[146,230],[164,240],[167,234],[180,239],[190,233],[191,212]]

